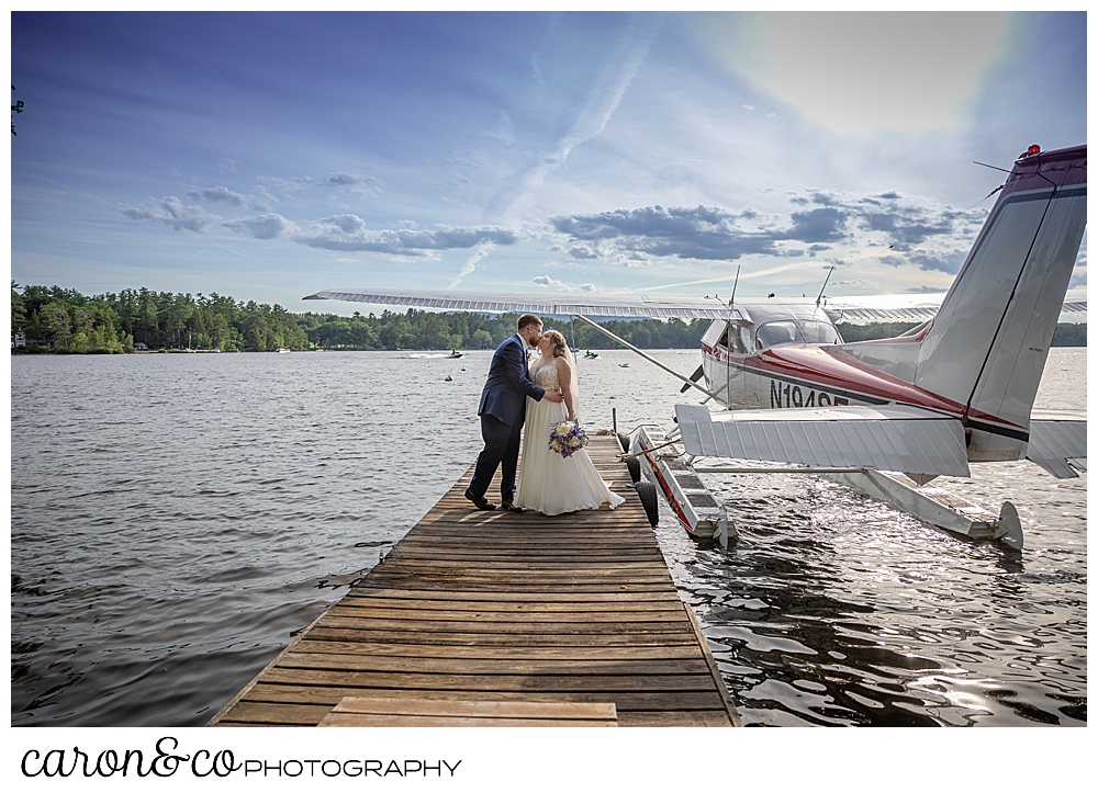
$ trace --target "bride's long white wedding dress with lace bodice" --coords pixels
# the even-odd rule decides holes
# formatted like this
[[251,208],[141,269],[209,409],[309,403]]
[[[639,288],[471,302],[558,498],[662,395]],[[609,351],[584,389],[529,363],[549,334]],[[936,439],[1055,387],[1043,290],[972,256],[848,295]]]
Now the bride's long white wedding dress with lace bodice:
[[[557,362],[552,361],[531,373],[530,378],[546,390],[559,388]],[[523,460],[518,466],[515,505],[544,514],[561,514],[580,509],[598,509],[604,503],[614,509],[624,503],[625,499],[610,492],[598,476],[586,450],[561,457],[549,449],[549,433],[567,418],[568,410],[563,404],[526,397]]]

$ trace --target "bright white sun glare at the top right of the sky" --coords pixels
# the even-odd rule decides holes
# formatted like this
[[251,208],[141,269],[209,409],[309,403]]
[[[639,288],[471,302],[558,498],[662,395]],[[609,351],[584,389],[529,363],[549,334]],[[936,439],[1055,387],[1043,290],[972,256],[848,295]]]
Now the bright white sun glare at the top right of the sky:
[[959,123],[1005,13],[776,13],[725,31],[729,66],[830,129]]

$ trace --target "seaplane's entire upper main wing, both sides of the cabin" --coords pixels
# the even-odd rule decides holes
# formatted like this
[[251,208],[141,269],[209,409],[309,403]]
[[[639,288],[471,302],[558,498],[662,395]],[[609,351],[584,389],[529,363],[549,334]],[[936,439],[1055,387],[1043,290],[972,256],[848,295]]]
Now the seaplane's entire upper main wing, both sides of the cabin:
[[[828,297],[825,310],[839,321],[925,321],[931,319],[942,303],[939,295],[866,295],[861,297]],[[440,308],[450,311],[488,311],[568,316],[583,314],[589,317],[620,319],[748,319],[752,305],[780,303],[808,303],[813,298],[751,298],[737,302],[744,311],[729,309],[718,297],[676,298],[651,295],[610,295],[602,293],[564,294],[500,294],[496,292],[464,292],[423,290],[323,290],[302,299],[350,301],[379,306],[410,306],[413,308]],[[1086,319],[1086,290],[1073,290],[1064,302],[1062,319]]]

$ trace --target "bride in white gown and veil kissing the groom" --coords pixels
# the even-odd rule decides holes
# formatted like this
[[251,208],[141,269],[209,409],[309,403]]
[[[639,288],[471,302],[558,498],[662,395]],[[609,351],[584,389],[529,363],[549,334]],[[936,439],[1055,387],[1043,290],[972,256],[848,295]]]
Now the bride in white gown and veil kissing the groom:
[[530,379],[547,390],[559,389],[564,401],[535,401],[526,397],[523,461],[518,466],[515,506],[545,514],[598,509],[604,503],[614,509],[625,499],[610,492],[585,450],[561,457],[549,449],[552,429],[561,421],[575,420],[579,388],[574,359],[560,331],[547,330],[538,341],[538,350],[541,358],[530,365]]

